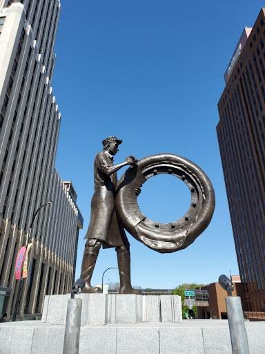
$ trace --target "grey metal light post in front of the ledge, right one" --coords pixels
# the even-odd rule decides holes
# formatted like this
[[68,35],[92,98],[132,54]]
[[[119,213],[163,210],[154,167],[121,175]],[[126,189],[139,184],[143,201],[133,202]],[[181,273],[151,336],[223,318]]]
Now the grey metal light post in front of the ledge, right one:
[[226,309],[233,354],[249,354],[240,297],[226,297]]

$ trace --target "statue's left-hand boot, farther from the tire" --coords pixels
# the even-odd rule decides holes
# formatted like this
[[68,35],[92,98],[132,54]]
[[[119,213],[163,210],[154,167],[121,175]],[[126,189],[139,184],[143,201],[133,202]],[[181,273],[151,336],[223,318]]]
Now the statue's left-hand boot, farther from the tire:
[[98,254],[99,249],[95,247],[86,247],[84,250],[80,278],[83,278],[84,281],[86,281],[86,286],[84,287],[82,292],[87,292],[90,294],[95,292],[101,292],[101,288],[93,288],[90,284]]

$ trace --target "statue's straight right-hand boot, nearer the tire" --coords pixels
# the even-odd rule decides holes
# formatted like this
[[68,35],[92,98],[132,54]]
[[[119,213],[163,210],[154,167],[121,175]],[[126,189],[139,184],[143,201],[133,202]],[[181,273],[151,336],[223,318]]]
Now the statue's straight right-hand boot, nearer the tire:
[[134,289],[130,283],[130,252],[125,246],[116,250],[119,267],[119,293],[141,295],[141,290]]

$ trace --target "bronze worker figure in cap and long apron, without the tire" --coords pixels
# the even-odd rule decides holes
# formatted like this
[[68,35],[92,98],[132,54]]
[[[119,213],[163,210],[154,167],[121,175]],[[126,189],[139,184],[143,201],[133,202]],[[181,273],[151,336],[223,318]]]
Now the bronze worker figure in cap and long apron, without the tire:
[[[101,292],[100,288],[93,288],[90,284],[92,272],[95,268],[97,256],[101,245],[103,248],[115,247],[119,267],[121,294],[140,294],[130,283],[130,243],[128,242],[124,227],[117,219],[115,211],[115,196],[117,188],[117,171],[126,165],[135,165],[134,156],[128,156],[126,161],[113,165],[113,156],[119,151],[122,140],[110,136],[103,140],[104,151],[97,153],[94,161],[95,192],[91,201],[91,215],[83,261],[81,265],[81,278],[86,281],[83,292]],[[135,190],[139,194],[139,189]]]

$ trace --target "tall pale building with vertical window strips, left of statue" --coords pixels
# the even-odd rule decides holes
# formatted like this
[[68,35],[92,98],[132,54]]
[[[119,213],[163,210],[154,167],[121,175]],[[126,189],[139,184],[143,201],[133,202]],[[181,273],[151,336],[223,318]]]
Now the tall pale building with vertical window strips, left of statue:
[[52,93],[59,0],[0,0],[0,315],[12,315],[17,254],[32,226],[19,315],[70,291],[83,218],[55,170],[61,114]]

